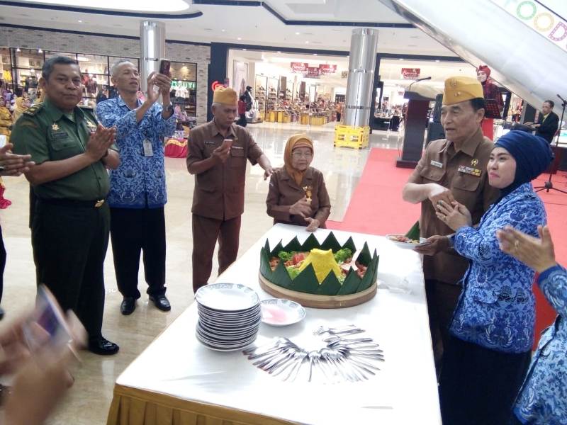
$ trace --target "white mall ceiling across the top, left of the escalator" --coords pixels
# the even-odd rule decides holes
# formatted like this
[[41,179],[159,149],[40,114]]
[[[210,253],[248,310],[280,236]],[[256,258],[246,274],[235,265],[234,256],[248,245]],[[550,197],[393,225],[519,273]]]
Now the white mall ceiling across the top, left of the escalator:
[[[190,0],[184,0],[191,3]],[[234,1],[234,0],[233,0]],[[28,1],[20,3],[29,4]],[[96,1],[93,2],[96,4]],[[286,20],[407,23],[378,0],[268,0]],[[159,5],[160,2],[156,1]],[[356,4],[356,7],[353,5]],[[349,50],[353,27],[286,25],[261,6],[191,5],[183,13],[203,16],[164,19],[169,40]],[[89,33],[139,35],[142,18],[1,6],[0,23]],[[82,21],[79,23],[79,20]],[[299,34],[296,34],[299,33]],[[38,46],[39,47],[39,46]],[[416,28],[378,28],[378,51],[404,55],[454,56]]]

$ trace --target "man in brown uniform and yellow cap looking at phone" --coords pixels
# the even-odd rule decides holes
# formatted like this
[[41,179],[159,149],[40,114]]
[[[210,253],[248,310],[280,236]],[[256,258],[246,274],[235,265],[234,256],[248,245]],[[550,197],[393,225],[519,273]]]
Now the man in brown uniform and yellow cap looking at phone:
[[212,121],[189,134],[187,169],[195,174],[193,193],[193,291],[208,283],[218,239],[219,274],[238,254],[240,216],[244,212],[246,160],[271,176],[269,159],[252,136],[235,125],[238,96],[221,87],[213,95]]

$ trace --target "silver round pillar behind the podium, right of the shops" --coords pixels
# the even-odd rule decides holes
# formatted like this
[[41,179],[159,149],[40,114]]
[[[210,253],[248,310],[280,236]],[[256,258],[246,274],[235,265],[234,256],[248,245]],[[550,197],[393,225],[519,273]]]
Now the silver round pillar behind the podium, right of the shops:
[[378,31],[370,28],[352,30],[344,125],[352,127],[369,125],[371,104],[374,101],[377,47]]

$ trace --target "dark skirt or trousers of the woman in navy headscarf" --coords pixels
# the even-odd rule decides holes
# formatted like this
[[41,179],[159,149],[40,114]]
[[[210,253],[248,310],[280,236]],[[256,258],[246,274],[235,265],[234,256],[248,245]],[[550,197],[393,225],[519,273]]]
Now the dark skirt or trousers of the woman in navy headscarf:
[[[443,425],[507,425],[532,356],[449,338],[439,380]],[[513,422],[512,422],[513,423]]]

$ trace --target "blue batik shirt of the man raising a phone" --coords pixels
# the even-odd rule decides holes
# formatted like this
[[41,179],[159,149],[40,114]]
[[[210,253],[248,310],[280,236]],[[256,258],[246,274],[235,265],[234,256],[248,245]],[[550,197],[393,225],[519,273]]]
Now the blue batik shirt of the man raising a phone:
[[[138,106],[140,106],[138,101]],[[116,126],[120,166],[110,171],[108,204],[116,208],[159,208],[167,202],[163,138],[175,131],[175,117],[162,118],[162,106],[154,103],[140,123],[123,99],[112,98],[96,106],[105,127]],[[144,140],[152,143],[153,156],[144,156]]]

